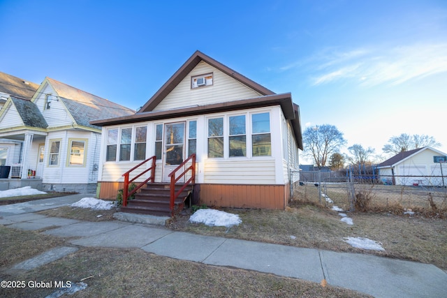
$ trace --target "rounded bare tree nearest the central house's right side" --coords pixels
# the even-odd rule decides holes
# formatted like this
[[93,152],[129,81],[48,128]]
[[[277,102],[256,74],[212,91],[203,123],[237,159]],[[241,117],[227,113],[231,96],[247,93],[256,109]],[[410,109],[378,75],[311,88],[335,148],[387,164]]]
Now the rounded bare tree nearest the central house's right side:
[[343,133],[329,124],[306,128],[302,140],[305,144],[305,155],[312,156],[319,169],[326,165],[328,156],[346,144]]

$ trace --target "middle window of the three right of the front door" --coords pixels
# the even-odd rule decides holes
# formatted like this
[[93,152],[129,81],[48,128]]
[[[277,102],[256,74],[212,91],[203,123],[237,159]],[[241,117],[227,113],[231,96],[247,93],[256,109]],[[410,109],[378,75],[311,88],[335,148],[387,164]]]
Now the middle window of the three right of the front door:
[[247,156],[247,137],[245,135],[245,115],[230,117],[228,136],[229,156]]

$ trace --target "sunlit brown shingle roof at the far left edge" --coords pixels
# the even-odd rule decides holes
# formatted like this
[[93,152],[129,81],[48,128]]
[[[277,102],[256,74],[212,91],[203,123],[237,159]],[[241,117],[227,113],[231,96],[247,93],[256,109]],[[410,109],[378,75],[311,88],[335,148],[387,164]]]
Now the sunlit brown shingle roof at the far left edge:
[[38,87],[36,83],[0,72],[0,93],[31,100]]

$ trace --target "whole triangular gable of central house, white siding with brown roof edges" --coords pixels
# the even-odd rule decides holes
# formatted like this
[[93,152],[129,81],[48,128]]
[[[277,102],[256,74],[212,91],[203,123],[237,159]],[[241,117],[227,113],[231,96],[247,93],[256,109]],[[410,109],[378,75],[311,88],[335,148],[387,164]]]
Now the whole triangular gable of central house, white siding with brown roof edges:
[[[199,75],[212,75],[212,85],[191,88],[191,80]],[[216,81],[217,80],[217,81]],[[219,103],[222,94],[219,92],[233,90],[235,96],[230,97],[230,100],[238,100],[244,98],[253,98],[256,96],[273,95],[274,92],[261,86],[260,84],[244,77],[235,70],[224,66],[219,61],[208,57],[200,51],[196,51],[183,65],[174,73],[172,77],[163,84],[159,91],[147,101],[145,105],[138,111],[151,112],[155,110],[165,110],[174,107],[188,107],[191,105],[203,105],[205,102],[202,98],[208,98],[207,104]],[[186,92],[189,91],[189,92]],[[193,91],[193,92],[191,92]],[[195,92],[194,92],[195,91]],[[217,94],[213,94],[217,91]],[[171,92],[173,92],[172,95]],[[175,98],[186,95],[186,98],[190,98],[188,101],[175,104]],[[236,97],[237,96],[237,97]],[[242,97],[241,97],[242,96]],[[191,103],[191,99],[193,102]],[[166,100],[166,103],[162,101]],[[230,101],[227,100],[227,101]]]

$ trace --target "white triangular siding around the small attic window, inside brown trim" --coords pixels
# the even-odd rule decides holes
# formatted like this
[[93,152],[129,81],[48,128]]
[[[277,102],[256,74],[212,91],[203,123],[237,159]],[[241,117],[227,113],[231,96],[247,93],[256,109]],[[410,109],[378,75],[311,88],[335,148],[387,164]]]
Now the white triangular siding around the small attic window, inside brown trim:
[[[191,89],[191,77],[213,73],[212,86]],[[196,68],[186,75],[173,91],[163,99],[154,111],[178,109],[191,105],[207,105],[222,103],[244,98],[261,96],[258,92],[236,81],[233,77],[222,73],[221,70],[201,61]]]

